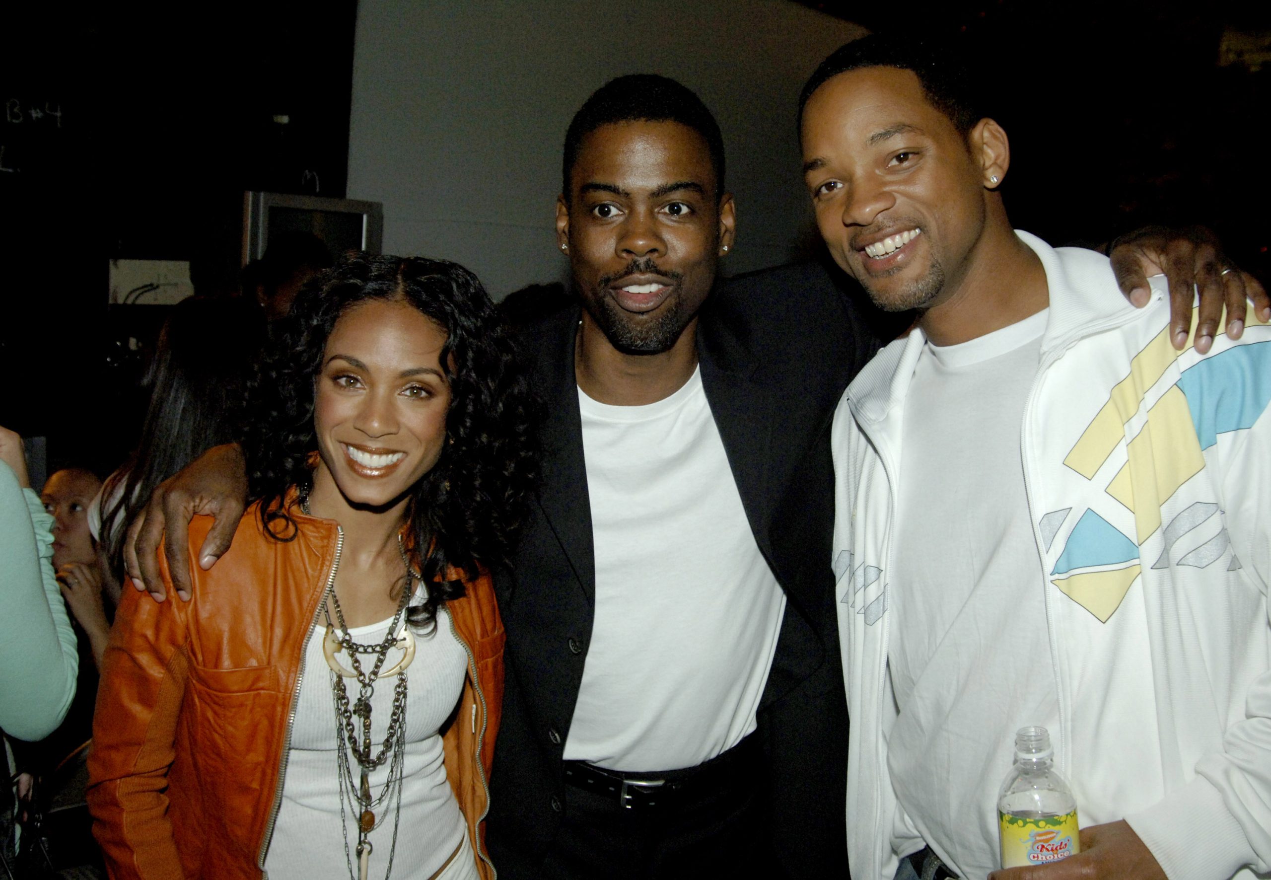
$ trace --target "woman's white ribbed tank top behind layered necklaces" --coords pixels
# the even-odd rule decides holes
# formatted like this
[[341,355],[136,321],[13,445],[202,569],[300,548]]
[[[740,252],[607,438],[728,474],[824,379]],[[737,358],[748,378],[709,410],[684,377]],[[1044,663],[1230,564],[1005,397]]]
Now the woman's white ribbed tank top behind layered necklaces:
[[[291,750],[287,755],[282,804],[269,841],[264,867],[271,877],[281,880],[315,880],[344,876],[348,871],[344,842],[357,871],[357,814],[344,806],[344,830],[341,832],[339,790],[337,769],[336,703],[332,692],[333,673],[323,656],[322,641],[325,618],[314,628],[305,650],[304,678],[295,706],[291,727]],[[391,621],[365,627],[352,627],[350,635],[361,645],[377,643]],[[400,631],[404,623],[398,624]],[[347,666],[347,655],[337,655]],[[391,669],[402,657],[389,649],[384,669]],[[372,656],[361,655],[365,664]],[[393,848],[393,824],[397,797],[385,800],[375,810],[383,824],[371,832],[371,876],[384,876],[389,852],[393,852],[394,877],[431,877],[466,834],[466,824],[450,782],[446,780],[445,754],[438,730],[459,702],[468,652],[455,637],[450,614],[437,612],[437,626],[427,635],[416,632],[416,655],[408,675],[405,753],[402,778],[402,813],[398,816],[397,848]],[[395,678],[376,682],[371,696],[371,740],[379,753],[393,708]],[[357,680],[346,678],[350,702],[357,699]],[[355,717],[355,722],[356,722]],[[341,732],[339,743],[348,749]],[[350,768],[357,783],[360,769],[350,753]],[[388,778],[389,762],[371,771],[371,794],[379,796]],[[391,802],[390,802],[391,801]],[[477,867],[456,866],[455,877],[477,877]],[[447,875],[449,876],[449,875]]]

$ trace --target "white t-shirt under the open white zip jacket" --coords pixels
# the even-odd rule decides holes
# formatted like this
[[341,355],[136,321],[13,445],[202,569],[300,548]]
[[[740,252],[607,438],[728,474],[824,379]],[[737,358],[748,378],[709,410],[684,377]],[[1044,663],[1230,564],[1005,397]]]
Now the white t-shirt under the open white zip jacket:
[[[1059,720],[1019,439],[1046,312],[923,350],[905,401],[887,743],[897,853],[963,877],[998,867],[998,788],[1016,731]],[[907,818],[907,823],[906,823]]]

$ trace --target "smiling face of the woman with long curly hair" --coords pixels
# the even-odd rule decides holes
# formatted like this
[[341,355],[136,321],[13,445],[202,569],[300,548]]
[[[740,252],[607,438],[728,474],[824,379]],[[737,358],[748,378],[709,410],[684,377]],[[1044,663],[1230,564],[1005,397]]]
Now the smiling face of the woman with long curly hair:
[[315,482],[329,476],[351,505],[386,507],[432,469],[450,407],[445,343],[405,303],[367,300],[336,322],[314,388]]

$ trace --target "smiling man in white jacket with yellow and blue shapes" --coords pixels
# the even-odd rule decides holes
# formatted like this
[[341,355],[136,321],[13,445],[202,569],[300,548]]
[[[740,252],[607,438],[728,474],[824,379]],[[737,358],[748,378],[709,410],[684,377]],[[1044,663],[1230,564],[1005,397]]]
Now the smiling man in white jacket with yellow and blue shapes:
[[[830,253],[919,313],[833,427],[852,875],[1251,877],[1271,870],[1271,315],[1177,351],[1160,278],[1135,310],[1103,257],[1012,230],[1007,136],[974,98],[948,58],[871,37],[802,99]],[[1050,730],[1082,853],[996,871],[1024,725]]]

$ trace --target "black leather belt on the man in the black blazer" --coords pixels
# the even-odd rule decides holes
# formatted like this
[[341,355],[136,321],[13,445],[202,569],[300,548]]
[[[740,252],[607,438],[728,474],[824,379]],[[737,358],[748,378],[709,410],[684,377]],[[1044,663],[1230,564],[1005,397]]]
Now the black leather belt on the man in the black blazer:
[[585,760],[564,762],[564,781],[576,788],[613,799],[625,810],[666,809],[721,791],[752,787],[747,764],[756,763],[759,741],[747,736],[723,754],[677,771],[627,773]]

